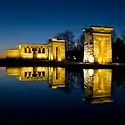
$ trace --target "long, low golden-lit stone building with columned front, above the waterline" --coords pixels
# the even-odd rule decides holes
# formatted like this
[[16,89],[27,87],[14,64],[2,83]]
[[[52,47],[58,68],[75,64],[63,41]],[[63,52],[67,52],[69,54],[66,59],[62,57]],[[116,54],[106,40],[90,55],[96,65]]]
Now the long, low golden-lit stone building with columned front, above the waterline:
[[65,60],[65,40],[50,39],[48,44],[21,44],[7,49],[6,58]]

